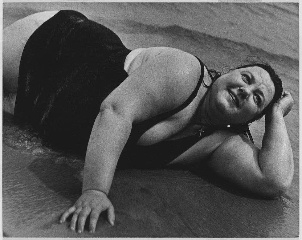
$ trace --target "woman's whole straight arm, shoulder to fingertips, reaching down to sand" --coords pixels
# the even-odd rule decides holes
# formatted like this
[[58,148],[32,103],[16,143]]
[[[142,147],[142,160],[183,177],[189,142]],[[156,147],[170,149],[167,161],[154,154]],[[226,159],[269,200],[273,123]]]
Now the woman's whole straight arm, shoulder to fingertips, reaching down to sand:
[[78,222],[78,232],[83,232],[90,214],[89,230],[94,232],[100,213],[107,210],[113,225],[114,209],[107,194],[132,124],[182,104],[195,87],[192,81],[198,81],[199,66],[194,56],[180,50],[157,55],[138,67],[103,101],[88,142],[82,195],[60,222],[73,213],[71,229],[75,230]]

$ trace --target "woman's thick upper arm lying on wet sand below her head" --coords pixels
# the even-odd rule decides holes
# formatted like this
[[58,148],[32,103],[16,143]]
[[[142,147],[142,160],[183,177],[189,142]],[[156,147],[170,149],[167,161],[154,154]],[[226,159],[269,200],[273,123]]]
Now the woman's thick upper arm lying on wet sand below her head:
[[260,149],[244,135],[235,135],[224,141],[212,154],[209,166],[220,176],[251,192],[276,196],[278,186],[274,179],[262,173]]

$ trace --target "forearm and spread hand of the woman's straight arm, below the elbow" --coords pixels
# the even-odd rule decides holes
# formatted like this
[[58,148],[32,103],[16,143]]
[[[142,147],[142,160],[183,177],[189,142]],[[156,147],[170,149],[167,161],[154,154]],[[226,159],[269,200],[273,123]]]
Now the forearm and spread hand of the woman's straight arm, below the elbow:
[[73,213],[71,230],[76,230],[77,224],[78,232],[83,232],[90,214],[89,229],[94,232],[99,215],[105,210],[108,222],[113,226],[114,208],[107,196],[118,156],[127,142],[131,126],[132,120],[128,116],[115,111],[110,105],[102,104],[88,142],[82,195],[61,218],[64,222],[68,215]]

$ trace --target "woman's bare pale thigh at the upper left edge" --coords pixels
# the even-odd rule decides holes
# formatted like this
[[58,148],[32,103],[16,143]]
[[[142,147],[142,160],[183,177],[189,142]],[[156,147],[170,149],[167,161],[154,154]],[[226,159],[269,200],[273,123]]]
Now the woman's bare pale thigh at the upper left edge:
[[58,11],[45,11],[21,18],[2,31],[3,36],[3,89],[16,92],[18,73],[24,46],[32,33]]

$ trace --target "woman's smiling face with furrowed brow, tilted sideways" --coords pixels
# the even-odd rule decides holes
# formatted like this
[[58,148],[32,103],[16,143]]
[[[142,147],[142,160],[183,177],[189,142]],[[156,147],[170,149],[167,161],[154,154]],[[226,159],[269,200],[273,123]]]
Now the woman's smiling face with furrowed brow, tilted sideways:
[[210,111],[227,124],[251,120],[271,102],[275,86],[261,67],[231,70],[219,77],[210,92]]

